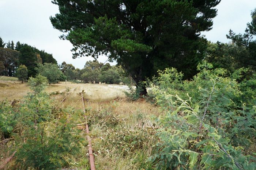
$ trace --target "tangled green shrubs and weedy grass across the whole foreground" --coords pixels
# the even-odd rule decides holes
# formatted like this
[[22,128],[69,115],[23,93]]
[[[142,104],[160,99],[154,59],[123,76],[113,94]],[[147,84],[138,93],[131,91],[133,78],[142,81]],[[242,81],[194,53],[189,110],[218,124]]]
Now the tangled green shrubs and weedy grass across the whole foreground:
[[[90,169],[88,123],[96,169],[255,169],[256,75],[246,75],[246,68],[230,74],[206,62],[197,68],[190,81],[175,68],[159,71],[147,82],[155,105],[87,100],[85,115],[65,104],[80,106],[80,95],[54,104],[50,96],[63,98],[69,89],[49,95],[45,83],[35,83],[44,78],[31,79],[40,86],[33,93],[0,103],[1,148],[17,151],[7,167]],[[132,88],[128,99],[137,98]]]

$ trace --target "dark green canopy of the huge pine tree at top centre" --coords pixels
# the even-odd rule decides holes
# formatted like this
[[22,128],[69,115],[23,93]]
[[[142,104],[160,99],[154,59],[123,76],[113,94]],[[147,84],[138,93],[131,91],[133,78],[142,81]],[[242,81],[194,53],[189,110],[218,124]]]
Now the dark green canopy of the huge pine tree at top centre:
[[201,31],[209,31],[220,0],[53,0],[60,13],[50,20],[65,34],[78,56],[107,55],[136,83],[159,69],[176,67],[187,78],[206,48]]

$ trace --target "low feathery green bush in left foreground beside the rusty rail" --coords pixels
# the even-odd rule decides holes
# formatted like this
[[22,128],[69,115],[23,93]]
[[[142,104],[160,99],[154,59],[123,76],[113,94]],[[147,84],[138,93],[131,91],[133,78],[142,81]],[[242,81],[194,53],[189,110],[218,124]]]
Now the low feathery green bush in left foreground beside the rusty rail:
[[21,137],[27,139],[19,147],[16,161],[19,167],[27,169],[60,169],[67,166],[65,157],[79,153],[83,145],[80,130],[76,128],[78,113],[70,116],[67,112],[60,119],[52,119],[40,123],[30,123]]

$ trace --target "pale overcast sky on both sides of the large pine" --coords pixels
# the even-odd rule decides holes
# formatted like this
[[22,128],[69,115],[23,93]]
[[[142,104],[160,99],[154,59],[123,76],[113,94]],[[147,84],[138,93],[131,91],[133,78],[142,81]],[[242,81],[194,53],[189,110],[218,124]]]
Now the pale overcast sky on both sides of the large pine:
[[[212,30],[202,34],[213,42],[228,42],[229,29],[243,33],[255,8],[256,0],[222,0],[217,6],[218,15],[213,19]],[[49,20],[58,12],[58,6],[51,0],[0,0],[0,37],[5,42],[20,41],[45,50],[53,54],[58,64],[65,61],[83,68],[86,61],[93,58],[72,59],[72,44],[59,39],[61,32],[54,29]],[[102,56],[98,60],[104,63],[107,58]]]

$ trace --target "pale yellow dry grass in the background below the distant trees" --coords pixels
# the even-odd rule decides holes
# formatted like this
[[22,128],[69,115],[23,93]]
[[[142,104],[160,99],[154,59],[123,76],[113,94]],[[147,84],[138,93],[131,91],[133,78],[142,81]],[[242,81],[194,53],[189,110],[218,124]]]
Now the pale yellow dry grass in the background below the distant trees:
[[[65,92],[69,89],[72,94],[76,94],[84,90],[84,97],[93,101],[107,101],[116,98],[123,98],[125,95],[122,89],[108,87],[106,84],[76,84],[71,82],[60,82],[58,84],[50,84],[46,91]],[[21,99],[30,92],[27,83],[19,81],[3,81],[0,80],[0,100]]]

